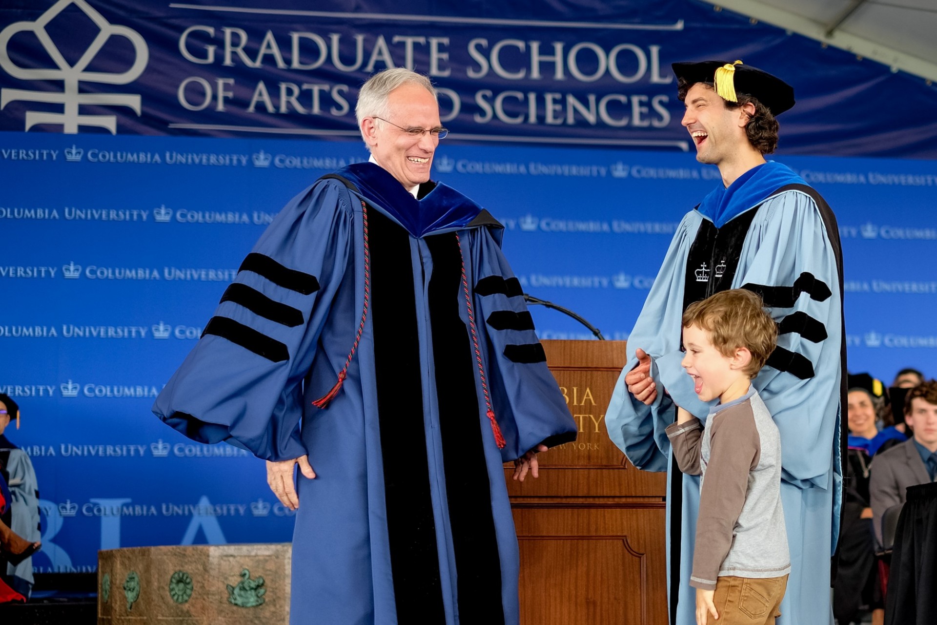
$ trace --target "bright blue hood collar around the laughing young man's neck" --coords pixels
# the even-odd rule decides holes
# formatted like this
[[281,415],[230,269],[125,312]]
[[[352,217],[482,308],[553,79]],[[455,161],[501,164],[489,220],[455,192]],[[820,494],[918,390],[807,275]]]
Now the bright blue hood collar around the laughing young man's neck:
[[736,216],[762,203],[772,193],[787,185],[806,185],[787,165],[773,160],[738,176],[728,188],[718,186],[703,198],[697,210],[721,228]]

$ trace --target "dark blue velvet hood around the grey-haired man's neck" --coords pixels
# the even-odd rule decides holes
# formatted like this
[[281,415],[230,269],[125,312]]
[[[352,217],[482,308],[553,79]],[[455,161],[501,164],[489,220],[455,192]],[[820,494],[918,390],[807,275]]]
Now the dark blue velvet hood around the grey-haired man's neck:
[[365,200],[379,205],[417,238],[465,228],[483,211],[474,201],[441,183],[417,200],[394,176],[374,163],[354,163],[335,174],[357,187]]

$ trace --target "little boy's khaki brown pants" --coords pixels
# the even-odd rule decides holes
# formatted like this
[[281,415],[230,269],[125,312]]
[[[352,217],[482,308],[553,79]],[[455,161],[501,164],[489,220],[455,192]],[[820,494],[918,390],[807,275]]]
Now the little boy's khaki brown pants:
[[719,577],[713,603],[719,620],[709,615],[706,625],[774,625],[781,616],[787,575],[781,577]]

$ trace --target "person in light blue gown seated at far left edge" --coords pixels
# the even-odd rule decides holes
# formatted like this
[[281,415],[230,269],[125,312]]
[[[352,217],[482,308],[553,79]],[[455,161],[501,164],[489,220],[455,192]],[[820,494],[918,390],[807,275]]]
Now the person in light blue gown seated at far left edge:
[[[9,487],[8,525],[23,539],[35,543],[41,536],[36,471],[29,455],[4,435],[7,425],[14,421],[19,429],[20,407],[6,394],[0,393],[0,473]],[[25,558],[15,566],[9,562],[0,567],[0,578],[28,599],[33,589],[33,558]]]

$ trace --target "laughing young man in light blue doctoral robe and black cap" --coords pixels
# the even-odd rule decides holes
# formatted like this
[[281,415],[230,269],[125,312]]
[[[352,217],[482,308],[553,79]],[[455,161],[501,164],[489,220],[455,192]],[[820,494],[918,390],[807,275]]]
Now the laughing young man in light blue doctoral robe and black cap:
[[794,106],[789,85],[737,61],[677,63],[674,72],[696,158],[719,167],[722,185],[677,227],[628,340],[605,417],[609,436],[639,469],[668,471],[671,623],[693,625],[699,482],[673,467],[664,428],[676,406],[702,420],[708,406],[680,367],[680,318],[717,290],[758,292],[780,325],[778,349],[752,380],[781,431],[791,573],[777,622],[828,625],[846,374],[836,220],[794,171],[765,160],[777,145],[775,115]]

